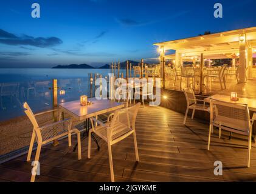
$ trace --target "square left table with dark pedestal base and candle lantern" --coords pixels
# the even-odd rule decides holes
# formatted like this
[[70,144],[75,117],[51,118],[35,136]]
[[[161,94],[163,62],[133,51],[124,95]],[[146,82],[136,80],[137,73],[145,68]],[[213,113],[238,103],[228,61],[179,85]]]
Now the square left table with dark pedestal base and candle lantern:
[[[72,120],[75,121],[86,121],[86,133],[83,133],[83,139],[88,136],[89,132],[89,118],[91,117],[97,117],[98,115],[102,115],[104,113],[112,112],[117,109],[122,109],[124,107],[124,104],[110,101],[109,99],[100,99],[97,100],[96,98],[88,98],[88,101],[92,101],[91,105],[80,105],[80,100],[77,101],[71,101],[71,102],[63,102],[58,104],[60,109],[67,113],[68,115],[72,116]],[[97,139],[94,138],[92,135],[92,138],[96,142],[98,146],[98,150],[100,150],[99,144],[97,142]],[[74,150],[76,149],[77,145],[74,147]]]

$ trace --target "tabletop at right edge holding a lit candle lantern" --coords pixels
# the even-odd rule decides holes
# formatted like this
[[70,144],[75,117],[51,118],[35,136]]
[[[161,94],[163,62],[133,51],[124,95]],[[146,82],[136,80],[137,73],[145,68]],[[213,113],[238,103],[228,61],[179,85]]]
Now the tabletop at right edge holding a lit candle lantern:
[[213,96],[210,96],[210,97],[204,99],[204,101],[210,102],[210,99],[216,99],[218,101],[224,101],[224,102],[231,102],[231,103],[234,103],[234,104],[247,104],[249,110],[251,110],[252,112],[256,112],[256,99],[239,98],[238,101],[231,101],[230,96],[213,95]]

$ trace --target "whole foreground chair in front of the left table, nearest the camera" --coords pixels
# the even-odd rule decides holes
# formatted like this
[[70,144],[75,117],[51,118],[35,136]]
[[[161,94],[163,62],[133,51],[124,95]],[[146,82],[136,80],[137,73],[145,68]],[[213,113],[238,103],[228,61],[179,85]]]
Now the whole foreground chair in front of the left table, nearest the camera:
[[[137,148],[135,121],[137,112],[139,111],[140,103],[127,109],[116,110],[114,117],[111,121],[103,124],[95,118],[90,118],[92,128],[89,130],[88,136],[88,158],[91,158],[91,133],[94,132],[97,136],[102,138],[108,144],[109,154],[109,166],[111,181],[114,182],[114,170],[112,162],[112,150],[111,146],[119,141],[122,141],[126,137],[133,134],[134,149],[136,155],[136,161],[139,161],[139,153]],[[94,127],[95,122],[95,127]],[[99,125],[98,125],[99,124]]]

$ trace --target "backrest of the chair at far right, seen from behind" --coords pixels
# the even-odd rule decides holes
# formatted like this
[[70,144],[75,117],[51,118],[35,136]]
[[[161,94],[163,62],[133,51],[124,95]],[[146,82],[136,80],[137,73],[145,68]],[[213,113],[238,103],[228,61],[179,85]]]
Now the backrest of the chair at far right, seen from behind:
[[248,105],[211,99],[210,122],[249,133],[251,121]]

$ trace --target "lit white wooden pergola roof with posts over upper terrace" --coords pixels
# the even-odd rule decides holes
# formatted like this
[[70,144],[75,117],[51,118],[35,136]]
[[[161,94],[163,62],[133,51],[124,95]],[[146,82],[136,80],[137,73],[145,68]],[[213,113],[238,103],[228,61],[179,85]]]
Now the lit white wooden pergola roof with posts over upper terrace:
[[[253,53],[256,52],[256,27],[159,42],[154,45],[159,47],[163,79],[165,59],[175,59],[176,67],[180,67],[184,60],[200,59],[202,68],[205,59],[232,58],[235,65],[235,59],[239,58],[240,82],[246,82],[246,78],[252,78],[252,58]],[[166,50],[175,50],[175,54],[165,55]]]

